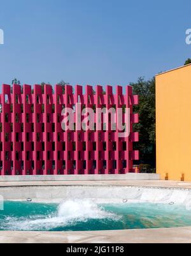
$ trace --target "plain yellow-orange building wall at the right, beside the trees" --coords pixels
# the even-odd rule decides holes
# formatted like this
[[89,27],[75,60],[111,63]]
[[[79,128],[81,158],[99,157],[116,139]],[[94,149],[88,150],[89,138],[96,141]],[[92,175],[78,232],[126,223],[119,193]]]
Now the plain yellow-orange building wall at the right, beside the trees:
[[191,181],[191,65],[156,76],[157,173]]

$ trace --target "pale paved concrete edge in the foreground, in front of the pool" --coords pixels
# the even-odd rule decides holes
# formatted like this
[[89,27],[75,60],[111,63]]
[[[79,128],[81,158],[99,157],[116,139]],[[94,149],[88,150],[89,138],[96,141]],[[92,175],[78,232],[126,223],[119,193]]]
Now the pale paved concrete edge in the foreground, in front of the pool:
[[0,243],[191,243],[191,228],[96,232],[0,232]]

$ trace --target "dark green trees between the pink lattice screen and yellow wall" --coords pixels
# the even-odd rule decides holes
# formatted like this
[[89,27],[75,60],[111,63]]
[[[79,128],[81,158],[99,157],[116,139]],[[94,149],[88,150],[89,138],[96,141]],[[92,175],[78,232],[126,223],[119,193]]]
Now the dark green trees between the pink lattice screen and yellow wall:
[[143,77],[132,83],[134,94],[139,95],[139,105],[134,112],[139,113],[139,123],[134,131],[139,132],[136,149],[140,151],[141,163],[150,163],[155,167],[155,78],[146,81]]

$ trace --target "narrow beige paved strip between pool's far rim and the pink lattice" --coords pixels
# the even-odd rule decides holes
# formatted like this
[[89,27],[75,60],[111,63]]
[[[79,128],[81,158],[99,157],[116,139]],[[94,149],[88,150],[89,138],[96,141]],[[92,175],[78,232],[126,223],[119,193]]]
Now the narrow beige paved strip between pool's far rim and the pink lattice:
[[181,181],[0,181],[1,186],[148,186],[153,188],[191,189],[191,182]]

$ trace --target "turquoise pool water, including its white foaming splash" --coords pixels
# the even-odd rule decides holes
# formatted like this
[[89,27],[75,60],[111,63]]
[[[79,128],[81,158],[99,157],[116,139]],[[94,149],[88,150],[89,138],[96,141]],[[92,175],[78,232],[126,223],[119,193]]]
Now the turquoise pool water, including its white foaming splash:
[[101,204],[67,200],[62,204],[5,202],[0,230],[120,230],[191,226],[184,206],[164,204]]

